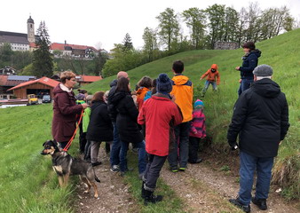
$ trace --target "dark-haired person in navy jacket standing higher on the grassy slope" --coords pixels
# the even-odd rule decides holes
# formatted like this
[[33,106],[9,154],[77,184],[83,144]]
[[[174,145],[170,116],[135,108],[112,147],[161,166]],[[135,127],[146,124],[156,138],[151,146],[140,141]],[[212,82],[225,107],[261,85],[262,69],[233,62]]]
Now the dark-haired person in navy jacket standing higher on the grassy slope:
[[240,71],[240,88],[238,91],[239,96],[241,92],[249,89],[251,83],[253,83],[253,70],[257,67],[258,58],[261,56],[261,51],[256,49],[256,45],[253,42],[247,42],[242,45],[245,55],[241,58],[241,67],[235,67],[236,70]]

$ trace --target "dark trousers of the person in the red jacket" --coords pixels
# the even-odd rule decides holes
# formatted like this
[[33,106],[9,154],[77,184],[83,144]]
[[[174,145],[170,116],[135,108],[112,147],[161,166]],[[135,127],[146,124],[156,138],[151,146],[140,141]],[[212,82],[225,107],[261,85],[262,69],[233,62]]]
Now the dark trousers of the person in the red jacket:
[[158,177],[164,162],[167,160],[167,156],[158,156],[154,154],[147,154],[147,163],[144,177],[146,179],[146,187],[154,190]]

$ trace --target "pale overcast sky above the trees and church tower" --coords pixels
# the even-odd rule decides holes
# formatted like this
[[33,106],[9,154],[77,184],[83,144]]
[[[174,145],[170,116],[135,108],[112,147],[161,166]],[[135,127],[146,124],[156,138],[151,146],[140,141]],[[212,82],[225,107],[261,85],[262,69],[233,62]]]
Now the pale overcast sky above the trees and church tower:
[[[156,16],[167,7],[183,12],[191,7],[206,9],[212,4],[225,4],[238,12],[250,2],[242,0],[4,0],[1,1],[0,31],[27,33],[29,14],[38,28],[44,20],[52,43],[83,44],[109,51],[114,43],[122,43],[126,33],[135,48],[143,45],[146,27],[156,28]],[[300,0],[259,0],[259,7],[288,6],[291,14],[300,20]],[[270,3],[271,2],[271,3]],[[187,33],[187,32],[185,32]]]

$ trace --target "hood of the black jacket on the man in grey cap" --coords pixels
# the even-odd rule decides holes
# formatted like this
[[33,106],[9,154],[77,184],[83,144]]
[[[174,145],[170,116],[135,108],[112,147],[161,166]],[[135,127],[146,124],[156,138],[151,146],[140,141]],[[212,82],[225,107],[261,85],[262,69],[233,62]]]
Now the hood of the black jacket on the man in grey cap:
[[265,98],[276,98],[280,95],[280,86],[269,78],[263,78],[254,82],[253,91]]

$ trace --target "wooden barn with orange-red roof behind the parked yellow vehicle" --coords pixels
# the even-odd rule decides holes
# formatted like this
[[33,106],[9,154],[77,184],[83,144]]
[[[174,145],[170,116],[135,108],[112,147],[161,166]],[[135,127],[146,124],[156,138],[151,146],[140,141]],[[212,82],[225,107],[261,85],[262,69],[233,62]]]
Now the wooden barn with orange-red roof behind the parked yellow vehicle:
[[27,99],[28,94],[36,94],[42,98],[43,94],[50,94],[53,97],[53,89],[59,84],[58,81],[48,77],[42,77],[34,81],[20,83],[12,87],[8,91],[13,91],[13,95],[17,99]]

